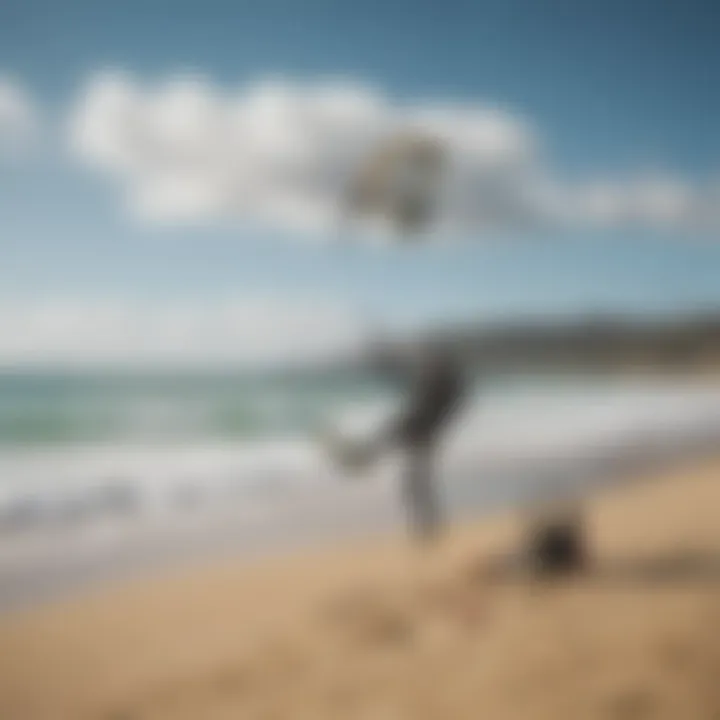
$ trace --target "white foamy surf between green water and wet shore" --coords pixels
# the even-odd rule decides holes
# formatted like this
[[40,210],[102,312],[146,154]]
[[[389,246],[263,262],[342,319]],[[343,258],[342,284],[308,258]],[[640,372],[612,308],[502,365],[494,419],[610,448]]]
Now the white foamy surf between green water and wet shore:
[[[373,402],[348,407],[339,422],[366,435],[390,412],[389,403]],[[714,432],[720,435],[717,384],[616,382],[481,393],[451,435],[444,467],[448,476],[474,474],[491,483],[499,472],[532,467],[540,473],[560,461]],[[368,487],[392,470],[379,467]],[[348,492],[335,482],[337,474],[313,438],[15,448],[0,454],[0,528],[161,522],[230,506],[243,512],[309,507]]]

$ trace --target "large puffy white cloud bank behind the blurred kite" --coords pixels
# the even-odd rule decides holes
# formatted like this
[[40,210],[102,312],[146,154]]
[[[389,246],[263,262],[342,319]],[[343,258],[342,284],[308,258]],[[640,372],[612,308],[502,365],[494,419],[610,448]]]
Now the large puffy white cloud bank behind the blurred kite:
[[320,232],[337,227],[361,159],[406,128],[447,150],[440,229],[682,229],[709,217],[702,193],[672,174],[563,182],[537,129],[505,110],[391,102],[346,80],[264,81],[231,92],[202,78],[143,86],[100,73],[70,122],[77,156],[114,178],[146,220],[240,219]]

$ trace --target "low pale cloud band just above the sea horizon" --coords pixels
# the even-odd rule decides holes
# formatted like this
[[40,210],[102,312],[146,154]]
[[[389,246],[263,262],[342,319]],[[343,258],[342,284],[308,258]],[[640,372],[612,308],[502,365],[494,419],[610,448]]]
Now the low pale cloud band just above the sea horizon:
[[266,365],[332,358],[362,342],[349,311],[305,298],[4,301],[0,327],[0,366]]

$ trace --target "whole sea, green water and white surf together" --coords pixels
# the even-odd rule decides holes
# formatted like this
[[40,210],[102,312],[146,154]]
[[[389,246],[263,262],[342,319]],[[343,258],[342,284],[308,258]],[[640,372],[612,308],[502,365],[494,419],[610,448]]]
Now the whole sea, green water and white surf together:
[[[343,502],[358,514],[387,500],[401,459],[349,490],[319,438],[371,431],[399,397],[351,371],[2,374],[0,532],[287,519]],[[621,457],[718,439],[710,381],[477,377],[440,472],[457,508],[490,508],[586,485]]]

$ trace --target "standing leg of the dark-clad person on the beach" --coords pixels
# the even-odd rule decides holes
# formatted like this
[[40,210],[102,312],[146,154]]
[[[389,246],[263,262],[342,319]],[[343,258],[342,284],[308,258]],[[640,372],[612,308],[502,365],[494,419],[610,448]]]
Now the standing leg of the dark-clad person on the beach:
[[441,509],[433,482],[433,449],[418,443],[407,448],[403,477],[403,500],[413,535],[420,541],[433,540],[440,532]]

